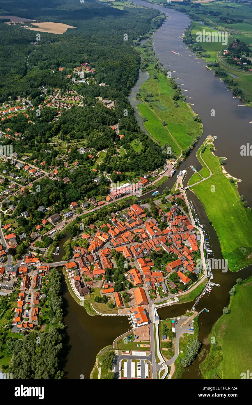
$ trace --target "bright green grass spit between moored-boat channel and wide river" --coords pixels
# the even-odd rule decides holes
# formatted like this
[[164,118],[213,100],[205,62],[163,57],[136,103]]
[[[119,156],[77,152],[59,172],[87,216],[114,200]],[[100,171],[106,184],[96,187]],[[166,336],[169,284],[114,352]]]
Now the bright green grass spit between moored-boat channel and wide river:
[[219,158],[210,152],[210,145],[201,156],[212,171],[212,176],[193,186],[192,190],[212,221],[229,269],[238,271],[252,263],[252,211],[244,208],[240,202],[236,184],[231,184],[224,176]]

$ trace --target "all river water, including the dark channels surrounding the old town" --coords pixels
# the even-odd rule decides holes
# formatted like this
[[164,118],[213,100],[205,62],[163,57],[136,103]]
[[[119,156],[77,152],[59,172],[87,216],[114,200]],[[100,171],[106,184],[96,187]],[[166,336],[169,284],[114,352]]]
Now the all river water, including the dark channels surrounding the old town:
[[[183,94],[190,97],[188,101],[193,104],[193,110],[199,114],[203,122],[203,136],[180,168],[187,169],[192,164],[197,169],[200,169],[201,165],[195,156],[195,152],[199,149],[206,136],[216,135],[217,139],[214,141],[216,154],[226,157],[226,170],[232,176],[242,180],[238,187],[239,193],[244,194],[249,206],[251,206],[252,159],[249,156],[241,156],[240,150],[241,145],[251,142],[252,124],[250,122],[252,121],[252,111],[248,107],[238,107],[243,104],[239,98],[234,98],[233,93],[226,88],[226,85],[204,67],[205,62],[195,59],[196,56],[192,56],[188,52],[182,42],[182,34],[190,23],[187,15],[140,0],[134,0],[134,2],[159,9],[167,15],[167,19],[163,22],[161,28],[154,34],[155,52],[161,62],[174,72],[172,76],[180,79],[177,80],[178,85],[184,84],[181,88],[187,91],[183,91]],[[175,55],[171,51],[179,52],[182,56]],[[142,117],[136,108],[139,103],[139,100],[136,99],[136,93],[146,79],[148,79],[146,72],[140,72],[139,79],[129,96],[142,129],[144,129]],[[212,109],[215,110],[215,117],[211,117]],[[184,184],[187,183],[191,174],[189,169]],[[163,190],[166,186],[172,188],[175,180],[175,177],[168,179],[159,190]],[[216,232],[210,226],[200,201],[190,191],[187,191],[187,195],[196,208],[200,223],[204,226],[206,238],[213,251],[212,256],[217,259],[222,258]],[[151,193],[148,196],[151,196]],[[60,256],[57,259],[55,256],[55,261],[58,261],[63,254],[62,245],[63,242],[60,243]],[[204,312],[199,315],[198,321],[200,326],[199,339],[203,342],[205,349],[210,347],[208,338],[212,325],[222,315],[223,307],[228,305],[229,290],[235,284],[236,278],[245,279],[250,275],[252,275],[252,266],[238,273],[231,273],[230,271],[227,271],[227,273],[214,272],[213,281],[219,282],[221,286],[214,287],[209,295],[205,294],[196,308],[197,311],[204,307],[209,309],[208,313]],[[159,310],[159,315],[162,319],[179,316],[185,313],[186,310],[191,310],[192,305],[193,302],[190,302],[163,308]],[[115,337],[128,330],[129,323],[126,317],[102,317],[99,315],[91,317],[87,315],[85,309],[80,307],[71,297],[66,285],[64,285],[64,307],[67,311],[65,322],[68,326],[67,332],[70,345],[65,367],[66,377],[80,378],[80,375],[83,374],[85,378],[89,378],[96,354],[102,347],[112,344]],[[198,360],[195,360],[186,369],[183,378],[201,378]]]

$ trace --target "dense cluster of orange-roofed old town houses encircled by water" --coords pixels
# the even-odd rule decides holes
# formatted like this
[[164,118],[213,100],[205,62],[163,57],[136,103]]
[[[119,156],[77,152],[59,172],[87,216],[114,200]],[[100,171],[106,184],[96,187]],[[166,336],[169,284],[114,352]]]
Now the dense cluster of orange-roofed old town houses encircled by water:
[[[75,246],[74,260],[66,264],[66,270],[71,272],[70,278],[77,283],[76,288],[80,295],[87,294],[88,290],[83,288],[95,286],[97,279],[104,281],[102,294],[114,294],[114,283],[105,281],[106,269],[113,267],[112,249],[116,249],[125,259],[133,259],[136,262],[136,267],[129,271],[129,281],[136,287],[145,283],[148,290],[156,292],[157,297],[160,287],[167,294],[167,286],[163,273],[153,271],[154,263],[149,258],[152,250],[165,250],[168,254],[178,257],[167,264],[166,272],[177,271],[180,281],[185,285],[191,280],[184,272],[197,273],[193,259],[193,253],[198,250],[197,237],[188,217],[177,215],[176,208],[172,207],[166,214],[167,227],[163,230],[159,228],[157,220],[146,218],[146,213],[138,204],[132,205],[127,212],[121,211],[121,219],[115,213],[111,216],[110,223],[97,228],[95,233],[82,234],[89,247],[85,249]],[[93,224],[89,227],[91,230],[95,228]],[[106,232],[103,231],[105,227]],[[116,295],[115,300],[119,303],[120,296]]]

